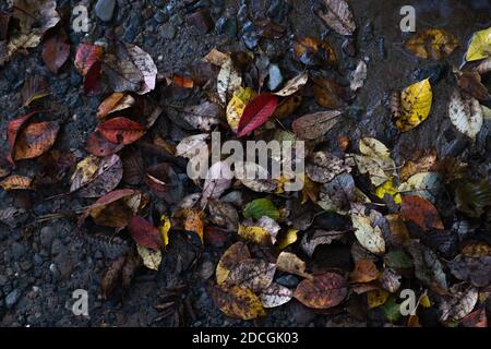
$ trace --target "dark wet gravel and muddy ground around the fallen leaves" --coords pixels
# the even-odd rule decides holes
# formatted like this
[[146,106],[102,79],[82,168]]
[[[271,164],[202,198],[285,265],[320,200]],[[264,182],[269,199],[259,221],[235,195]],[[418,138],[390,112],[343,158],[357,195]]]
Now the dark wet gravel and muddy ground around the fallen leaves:
[[[490,152],[488,132],[481,132],[477,143],[470,144],[452,127],[446,104],[450,92],[455,86],[450,73],[452,65],[460,64],[471,34],[491,24],[490,1],[350,0],[358,26],[356,57],[348,57],[342,51],[344,38],[330,33],[312,13],[311,1],[285,1],[290,4],[284,22],[287,35],[280,40],[260,43],[260,47],[271,55],[273,61],[287,64],[291,59],[289,48],[292,35],[326,35],[340,58],[342,72],[352,70],[360,58],[368,63],[368,80],[350,106],[349,117],[331,131],[333,140],[345,135],[351,140],[374,136],[393,149],[396,160],[407,158],[416,149],[435,147],[439,157],[458,156],[470,163],[478,157],[481,165],[476,165],[476,171],[483,173],[487,170],[486,163],[482,163],[486,153],[482,152]],[[35,72],[46,76],[51,86],[49,106],[53,111],[50,119],[62,122],[57,147],[70,149],[77,159],[86,155],[83,145],[96,125],[95,113],[101,97],[86,97],[82,93],[82,76],[72,63],[76,45],[82,39],[94,40],[104,36],[106,31],[113,29],[123,40],[134,43],[147,51],[160,73],[187,73],[190,63],[201,59],[214,47],[221,50],[246,49],[240,37],[240,25],[237,35],[218,34],[216,31],[200,33],[187,23],[189,8],[181,1],[117,2],[113,20],[103,23],[95,16],[95,1],[58,1],[59,7],[69,9],[79,3],[87,3],[92,23],[87,37],[70,34],[72,55],[60,74],[53,75],[44,67],[39,48],[29,50],[27,56],[15,57],[0,69],[2,154],[8,147],[7,123],[25,112],[21,108],[20,94],[24,79],[26,74]],[[271,5],[268,0],[246,2],[252,3],[249,7],[251,17],[264,16]],[[220,16],[233,17],[239,9],[238,0],[202,0],[199,3],[212,9],[215,21]],[[421,61],[407,53],[403,41],[408,36],[399,29],[399,9],[404,4],[412,4],[416,8],[417,28],[435,26],[447,29],[456,36],[460,47],[440,63]],[[256,9],[252,10],[254,5]],[[399,134],[384,106],[386,96],[391,89],[400,89],[417,81],[421,70],[434,69],[434,64],[441,64],[443,73],[433,85],[435,98],[431,116],[411,132]],[[157,89],[153,97],[167,98],[159,93]],[[297,116],[320,109],[313,100],[303,105]],[[166,129],[165,125],[159,125],[161,136],[179,137],[173,130]],[[25,174],[37,172],[36,161],[26,164],[28,165],[22,167]],[[205,245],[200,251],[179,236],[171,239],[160,272],[141,270],[128,290],[119,290],[109,300],[103,300],[100,276],[110,262],[125,253],[129,246],[124,240],[120,243],[106,242],[104,237],[107,237],[107,233],[96,227],[87,228],[79,234],[74,219],[36,221],[36,217],[89,204],[89,201],[72,196],[46,200],[67,190],[68,181],[32,193],[7,193],[0,190],[0,208],[14,205],[31,212],[29,219],[22,227],[9,228],[0,225],[1,326],[376,326],[383,323],[376,316],[360,322],[346,313],[315,315],[297,301],[268,311],[264,320],[255,323],[227,318],[213,304],[207,286],[219,256],[229,243],[223,248]],[[444,215],[444,219],[450,219],[445,222],[452,222],[448,216]],[[190,261],[196,256],[199,262],[192,264]],[[322,260],[325,260],[324,263],[331,263],[331,257],[320,255],[318,260],[321,262],[318,263],[322,263]],[[163,317],[155,305],[168,300],[169,288],[181,285],[184,287],[173,298],[177,304],[176,315]],[[72,314],[72,292],[75,289],[88,291],[89,316]]]

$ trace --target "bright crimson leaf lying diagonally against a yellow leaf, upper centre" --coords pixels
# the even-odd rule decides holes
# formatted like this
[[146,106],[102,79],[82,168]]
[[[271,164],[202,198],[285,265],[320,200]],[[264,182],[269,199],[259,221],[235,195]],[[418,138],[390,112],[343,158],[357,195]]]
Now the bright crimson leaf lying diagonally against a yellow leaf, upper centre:
[[252,99],[240,118],[237,135],[239,137],[248,135],[265,123],[275,112],[277,106],[278,99],[270,93],[263,93]]

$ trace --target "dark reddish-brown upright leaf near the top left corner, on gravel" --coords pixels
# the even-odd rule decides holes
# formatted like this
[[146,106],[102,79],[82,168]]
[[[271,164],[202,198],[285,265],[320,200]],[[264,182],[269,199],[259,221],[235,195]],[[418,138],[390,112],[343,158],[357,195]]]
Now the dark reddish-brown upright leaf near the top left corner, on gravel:
[[69,56],[70,44],[68,43],[67,32],[62,27],[58,27],[43,44],[43,60],[46,67],[56,74]]

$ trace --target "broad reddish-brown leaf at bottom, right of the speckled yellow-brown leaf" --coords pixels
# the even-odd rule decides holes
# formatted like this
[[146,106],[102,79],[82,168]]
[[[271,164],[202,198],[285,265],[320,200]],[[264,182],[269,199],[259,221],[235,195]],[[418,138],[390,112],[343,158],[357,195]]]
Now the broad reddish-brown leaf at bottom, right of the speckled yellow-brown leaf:
[[348,290],[345,279],[335,273],[314,275],[313,279],[302,280],[294,297],[303,305],[313,309],[328,309],[338,305]]

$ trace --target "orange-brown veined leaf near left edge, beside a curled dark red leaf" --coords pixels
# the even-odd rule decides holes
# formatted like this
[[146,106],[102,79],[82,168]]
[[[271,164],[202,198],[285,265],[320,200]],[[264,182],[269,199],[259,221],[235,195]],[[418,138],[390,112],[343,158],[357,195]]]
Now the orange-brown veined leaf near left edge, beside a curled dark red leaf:
[[49,151],[55,144],[60,127],[57,122],[35,122],[19,134],[13,149],[14,160],[32,159]]

